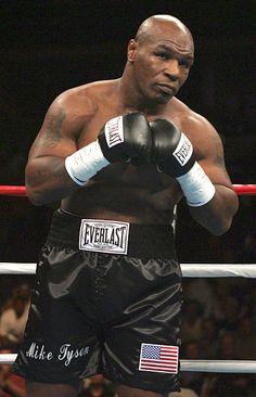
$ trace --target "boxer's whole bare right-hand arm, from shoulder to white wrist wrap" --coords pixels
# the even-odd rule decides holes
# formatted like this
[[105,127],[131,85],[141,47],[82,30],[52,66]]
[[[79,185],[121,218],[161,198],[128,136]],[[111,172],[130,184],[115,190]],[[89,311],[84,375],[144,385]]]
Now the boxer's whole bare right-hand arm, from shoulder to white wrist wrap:
[[[189,207],[192,217],[212,233],[219,235],[229,230],[239,201],[225,166],[221,140],[205,119],[195,123],[201,143],[194,143],[197,161],[214,183],[216,193],[205,205]],[[196,133],[195,133],[196,136]],[[192,136],[191,140],[193,140]]]

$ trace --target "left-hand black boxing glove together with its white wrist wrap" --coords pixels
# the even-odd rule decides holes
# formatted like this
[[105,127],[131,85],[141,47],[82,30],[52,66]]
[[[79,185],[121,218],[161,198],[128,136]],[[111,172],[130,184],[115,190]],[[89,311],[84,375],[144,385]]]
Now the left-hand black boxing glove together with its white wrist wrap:
[[69,177],[80,185],[111,163],[143,164],[151,158],[152,132],[145,116],[129,113],[110,119],[95,141],[67,156]]

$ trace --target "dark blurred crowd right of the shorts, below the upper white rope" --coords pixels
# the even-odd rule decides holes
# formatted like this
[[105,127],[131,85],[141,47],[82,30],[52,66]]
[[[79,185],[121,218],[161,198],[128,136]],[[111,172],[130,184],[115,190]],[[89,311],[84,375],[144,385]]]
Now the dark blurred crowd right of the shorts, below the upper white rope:
[[[184,280],[181,357],[255,360],[256,285],[248,279]],[[200,397],[253,397],[256,375],[181,372],[181,384]]]

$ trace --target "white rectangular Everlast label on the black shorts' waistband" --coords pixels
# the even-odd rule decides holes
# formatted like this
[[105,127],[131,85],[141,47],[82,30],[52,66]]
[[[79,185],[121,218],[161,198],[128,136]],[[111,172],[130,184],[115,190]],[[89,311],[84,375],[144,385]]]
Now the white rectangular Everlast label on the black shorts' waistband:
[[129,223],[82,219],[79,249],[106,254],[127,254]]

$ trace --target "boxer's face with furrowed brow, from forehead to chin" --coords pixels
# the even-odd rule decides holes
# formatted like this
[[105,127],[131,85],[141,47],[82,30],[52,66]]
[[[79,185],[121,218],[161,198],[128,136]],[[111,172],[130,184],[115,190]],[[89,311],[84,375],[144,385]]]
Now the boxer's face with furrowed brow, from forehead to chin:
[[131,40],[133,77],[149,102],[167,103],[184,84],[193,64],[193,41],[177,29],[158,29],[143,40]]

